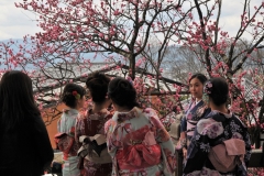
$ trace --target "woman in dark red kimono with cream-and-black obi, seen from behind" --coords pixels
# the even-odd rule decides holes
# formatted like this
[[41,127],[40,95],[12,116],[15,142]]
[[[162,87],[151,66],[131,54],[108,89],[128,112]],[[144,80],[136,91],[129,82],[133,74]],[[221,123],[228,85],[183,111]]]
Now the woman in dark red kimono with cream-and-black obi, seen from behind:
[[[111,100],[107,96],[108,84],[110,78],[101,73],[94,73],[88,76],[86,80],[86,87],[88,88],[88,95],[92,99],[92,106],[84,116],[81,116],[76,123],[76,140],[80,143],[86,141],[84,139],[91,139],[94,136],[100,136],[100,154],[92,153],[97,148],[92,148],[92,143],[87,143],[88,150],[84,148],[79,151],[82,162],[80,167],[84,167],[84,176],[109,176],[112,170],[111,157],[107,152],[105,123],[112,118],[112,114],[108,111]],[[96,141],[98,144],[98,141]],[[105,147],[105,148],[103,148]],[[89,151],[90,148],[90,151]],[[103,150],[103,151],[102,151]],[[87,154],[87,151],[89,154]],[[85,154],[84,154],[85,153]],[[98,157],[97,157],[98,156]]]

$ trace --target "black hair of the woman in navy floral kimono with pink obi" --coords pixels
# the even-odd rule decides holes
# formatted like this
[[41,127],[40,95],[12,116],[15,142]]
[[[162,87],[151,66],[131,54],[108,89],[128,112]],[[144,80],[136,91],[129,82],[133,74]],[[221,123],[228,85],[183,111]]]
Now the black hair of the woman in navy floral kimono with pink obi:
[[210,94],[208,96],[211,98],[216,106],[221,106],[228,101],[229,97],[229,86],[224,78],[216,77],[208,80],[211,82]]

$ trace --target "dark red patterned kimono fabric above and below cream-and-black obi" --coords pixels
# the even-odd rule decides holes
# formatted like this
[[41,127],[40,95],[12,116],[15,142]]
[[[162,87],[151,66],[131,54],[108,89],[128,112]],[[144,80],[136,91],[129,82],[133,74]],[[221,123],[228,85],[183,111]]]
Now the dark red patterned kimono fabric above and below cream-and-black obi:
[[[112,114],[107,109],[102,109],[97,113],[91,113],[91,109],[87,110],[84,118],[77,120],[76,140],[81,135],[106,135],[105,123],[111,118]],[[110,176],[111,172],[112,163],[98,164],[84,158],[84,176]]]

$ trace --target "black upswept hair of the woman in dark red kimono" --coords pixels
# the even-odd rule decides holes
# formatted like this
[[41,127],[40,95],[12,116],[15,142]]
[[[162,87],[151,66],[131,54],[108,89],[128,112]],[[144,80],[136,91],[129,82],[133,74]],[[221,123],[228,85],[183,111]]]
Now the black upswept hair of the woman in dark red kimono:
[[101,103],[106,100],[109,82],[110,78],[99,72],[88,76],[86,87],[89,89],[94,102]]

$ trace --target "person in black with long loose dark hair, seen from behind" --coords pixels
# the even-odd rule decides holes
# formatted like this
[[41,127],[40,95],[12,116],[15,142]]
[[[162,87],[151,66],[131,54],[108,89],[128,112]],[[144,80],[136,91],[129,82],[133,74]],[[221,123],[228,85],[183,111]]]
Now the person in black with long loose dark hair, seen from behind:
[[19,70],[4,73],[0,81],[0,175],[44,175],[53,157],[31,78]]

